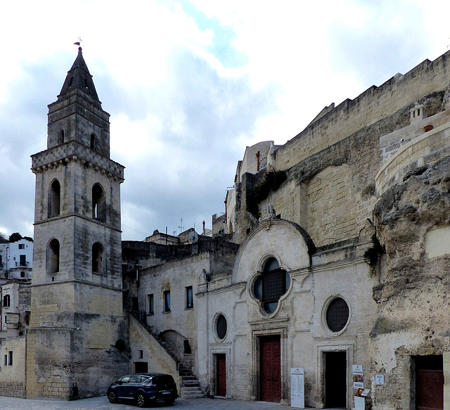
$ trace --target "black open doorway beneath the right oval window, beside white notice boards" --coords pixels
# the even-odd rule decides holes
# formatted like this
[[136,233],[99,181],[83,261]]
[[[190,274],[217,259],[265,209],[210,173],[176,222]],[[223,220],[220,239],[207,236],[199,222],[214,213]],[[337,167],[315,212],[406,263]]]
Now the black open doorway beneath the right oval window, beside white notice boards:
[[325,352],[325,406],[347,407],[347,352]]

